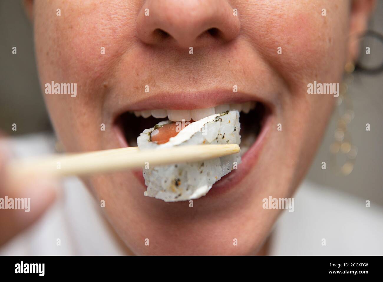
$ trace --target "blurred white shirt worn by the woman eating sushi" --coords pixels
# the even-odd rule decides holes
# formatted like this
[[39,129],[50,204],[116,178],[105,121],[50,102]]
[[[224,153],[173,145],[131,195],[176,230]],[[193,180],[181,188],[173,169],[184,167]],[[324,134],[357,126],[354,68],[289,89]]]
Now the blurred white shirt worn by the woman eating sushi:
[[[23,157],[54,152],[50,134],[13,138],[8,145]],[[275,223],[271,255],[383,254],[381,206],[367,208],[364,199],[307,181],[294,198],[294,211],[283,211]],[[35,225],[0,249],[0,255],[123,254],[100,204],[75,177],[64,180],[62,196]]]

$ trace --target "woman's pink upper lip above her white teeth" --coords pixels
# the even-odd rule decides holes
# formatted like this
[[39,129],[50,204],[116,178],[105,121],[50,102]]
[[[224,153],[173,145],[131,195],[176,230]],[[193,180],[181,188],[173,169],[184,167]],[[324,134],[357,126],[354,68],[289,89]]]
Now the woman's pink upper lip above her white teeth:
[[262,102],[272,110],[273,103],[268,97],[262,97],[256,93],[233,92],[228,89],[205,90],[199,92],[156,94],[142,93],[137,95],[136,101],[129,104],[121,103],[115,110],[114,118],[126,111],[141,110],[193,110],[198,108],[211,108],[222,104],[244,103],[248,101]]

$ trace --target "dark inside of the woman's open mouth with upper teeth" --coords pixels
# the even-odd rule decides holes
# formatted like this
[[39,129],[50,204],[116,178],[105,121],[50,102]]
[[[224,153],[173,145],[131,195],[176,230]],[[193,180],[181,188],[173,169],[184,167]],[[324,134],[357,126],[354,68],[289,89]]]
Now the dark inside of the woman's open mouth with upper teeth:
[[126,146],[137,146],[137,136],[146,128],[164,120],[171,121],[197,121],[206,116],[223,113],[228,110],[238,110],[240,112],[241,123],[241,155],[243,155],[254,144],[257,136],[262,130],[267,115],[268,108],[261,102],[249,101],[239,104],[218,105],[214,108],[196,110],[142,110],[126,111],[121,114],[116,125],[121,135],[126,141]]

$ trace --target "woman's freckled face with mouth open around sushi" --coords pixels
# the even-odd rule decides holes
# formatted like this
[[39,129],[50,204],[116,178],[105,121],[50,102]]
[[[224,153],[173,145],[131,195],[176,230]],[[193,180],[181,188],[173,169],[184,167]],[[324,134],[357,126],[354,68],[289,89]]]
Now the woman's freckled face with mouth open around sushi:
[[334,95],[308,94],[308,84],[341,81],[344,65],[357,53],[349,35],[365,23],[363,8],[348,0],[28,5],[43,92],[51,81],[77,84],[76,97],[44,93],[67,151],[127,146],[116,122],[126,111],[247,101],[270,111],[237,171],[193,207],[144,197],[146,186],[131,171],[85,179],[136,254],[252,254],[262,247],[281,212],[262,208],[262,199],[292,197],[336,101]]

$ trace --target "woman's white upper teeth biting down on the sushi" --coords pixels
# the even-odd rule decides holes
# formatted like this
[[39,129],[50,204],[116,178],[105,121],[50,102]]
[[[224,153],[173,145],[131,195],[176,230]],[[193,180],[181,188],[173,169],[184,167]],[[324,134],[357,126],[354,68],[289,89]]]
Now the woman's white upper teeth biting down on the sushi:
[[134,111],[134,115],[148,118],[153,116],[154,118],[167,118],[171,121],[189,121],[189,120],[201,120],[206,116],[214,115],[215,113],[223,113],[228,110],[238,110],[244,113],[249,113],[250,110],[255,108],[256,102],[246,102],[241,104],[224,104],[218,105],[214,108],[195,109],[195,110],[144,110]]

